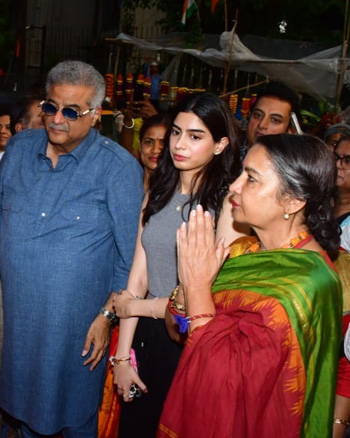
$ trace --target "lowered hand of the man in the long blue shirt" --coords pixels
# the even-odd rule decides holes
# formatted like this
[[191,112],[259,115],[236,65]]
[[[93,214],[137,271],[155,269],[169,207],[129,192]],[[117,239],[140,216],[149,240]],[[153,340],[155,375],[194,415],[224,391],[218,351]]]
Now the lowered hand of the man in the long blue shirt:
[[109,344],[109,330],[110,322],[103,315],[98,315],[89,328],[81,355],[85,357],[93,345],[89,359],[84,362],[84,365],[91,364],[90,371],[96,367],[106,354]]

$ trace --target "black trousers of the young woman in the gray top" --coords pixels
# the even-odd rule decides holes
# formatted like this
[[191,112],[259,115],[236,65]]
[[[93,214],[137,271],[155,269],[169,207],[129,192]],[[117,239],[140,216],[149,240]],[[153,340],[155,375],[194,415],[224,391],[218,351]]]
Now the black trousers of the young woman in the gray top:
[[122,402],[118,438],[154,438],[182,347],[169,338],[164,319],[140,318],[133,348],[148,393]]

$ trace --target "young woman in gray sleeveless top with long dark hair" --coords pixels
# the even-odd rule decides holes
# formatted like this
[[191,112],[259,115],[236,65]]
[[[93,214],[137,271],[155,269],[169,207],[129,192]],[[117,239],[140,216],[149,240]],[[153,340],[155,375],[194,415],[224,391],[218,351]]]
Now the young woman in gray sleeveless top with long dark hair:
[[[167,297],[178,283],[176,229],[201,203],[212,213],[220,234],[223,201],[239,166],[237,136],[227,105],[211,94],[181,103],[151,177],[127,291],[114,299],[118,316],[128,318],[120,321],[115,383],[124,401],[132,401],[122,405],[119,438],[154,438],[182,351],[168,337],[163,320]],[[229,241],[237,235],[230,227],[226,237]],[[139,323],[135,316],[142,316]],[[132,345],[139,373],[130,363]],[[144,393],[141,398],[130,397],[134,383]]]

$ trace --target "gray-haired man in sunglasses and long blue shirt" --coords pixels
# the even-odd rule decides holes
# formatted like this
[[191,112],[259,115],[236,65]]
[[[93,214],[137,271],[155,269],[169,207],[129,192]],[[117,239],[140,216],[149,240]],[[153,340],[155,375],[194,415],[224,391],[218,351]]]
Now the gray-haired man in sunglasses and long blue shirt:
[[92,66],[58,64],[46,91],[45,130],[13,137],[0,166],[0,405],[23,438],[96,438],[111,291],[126,287],[142,172],[93,128],[105,84]]

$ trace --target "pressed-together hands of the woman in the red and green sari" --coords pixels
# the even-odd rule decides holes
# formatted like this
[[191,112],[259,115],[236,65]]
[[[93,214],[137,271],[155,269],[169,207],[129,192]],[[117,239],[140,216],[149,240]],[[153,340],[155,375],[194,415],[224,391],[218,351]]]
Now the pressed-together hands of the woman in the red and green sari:
[[215,246],[212,218],[201,205],[190,214],[177,232],[178,274],[185,293],[191,289],[210,289],[229,253],[223,239]]

